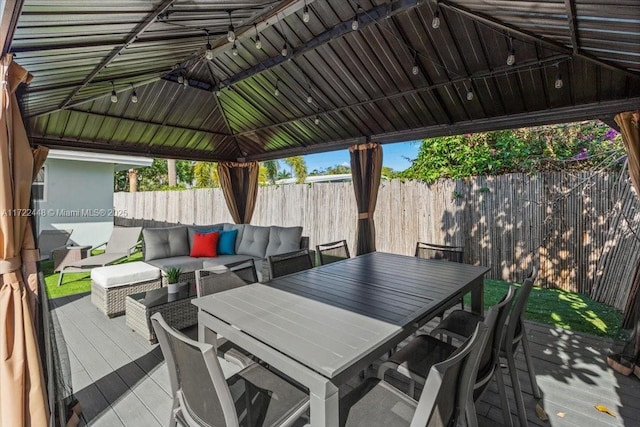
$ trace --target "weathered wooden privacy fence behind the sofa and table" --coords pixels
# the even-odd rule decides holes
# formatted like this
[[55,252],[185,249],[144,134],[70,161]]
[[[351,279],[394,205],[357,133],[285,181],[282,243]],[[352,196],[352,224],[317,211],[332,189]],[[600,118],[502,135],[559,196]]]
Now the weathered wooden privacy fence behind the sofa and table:
[[[626,174],[624,175],[626,177]],[[383,181],[375,213],[380,251],[413,255],[416,241],[462,245],[490,278],[588,294],[620,310],[640,257],[638,202],[609,173],[510,174],[427,185]],[[118,225],[232,222],[220,189],[116,193]],[[347,239],[355,248],[351,183],[261,187],[252,223],[302,225],[311,245]]]

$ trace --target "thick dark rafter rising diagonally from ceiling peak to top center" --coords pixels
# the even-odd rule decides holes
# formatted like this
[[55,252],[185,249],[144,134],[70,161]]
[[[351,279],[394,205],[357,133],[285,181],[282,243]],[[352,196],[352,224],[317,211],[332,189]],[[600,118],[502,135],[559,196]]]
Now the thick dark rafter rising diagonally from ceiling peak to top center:
[[[416,0],[397,0],[392,3],[382,4],[376,6],[373,9],[367,10],[366,13],[359,15],[358,21],[360,24],[360,30],[376,22],[389,18],[401,12],[406,12],[417,6]],[[358,30],[358,31],[360,31]],[[222,80],[220,83],[222,86],[230,86],[235,83],[239,83],[246,80],[256,74],[263,73],[273,67],[283,64],[284,62],[295,59],[307,52],[311,52],[319,47],[331,42],[332,40],[343,37],[346,34],[352,33],[351,22],[341,22],[325,32],[317,35],[306,43],[292,49],[291,53],[286,57],[277,55],[269,58],[259,64],[254,65],[246,70],[243,70],[227,79]]]

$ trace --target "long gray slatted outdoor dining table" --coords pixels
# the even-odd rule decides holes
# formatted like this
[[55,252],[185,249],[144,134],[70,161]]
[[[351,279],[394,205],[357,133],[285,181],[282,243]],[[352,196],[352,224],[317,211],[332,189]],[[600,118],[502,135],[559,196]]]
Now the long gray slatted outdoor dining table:
[[309,389],[311,425],[338,425],[338,386],[471,292],[486,267],[373,252],[193,300],[211,329]]

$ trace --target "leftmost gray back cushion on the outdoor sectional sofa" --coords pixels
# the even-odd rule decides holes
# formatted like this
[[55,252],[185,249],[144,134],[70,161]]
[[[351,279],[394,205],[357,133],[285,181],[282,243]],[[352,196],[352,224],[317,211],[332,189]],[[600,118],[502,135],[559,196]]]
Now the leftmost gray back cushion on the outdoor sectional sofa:
[[145,228],[144,260],[189,256],[189,239],[184,225],[168,228]]

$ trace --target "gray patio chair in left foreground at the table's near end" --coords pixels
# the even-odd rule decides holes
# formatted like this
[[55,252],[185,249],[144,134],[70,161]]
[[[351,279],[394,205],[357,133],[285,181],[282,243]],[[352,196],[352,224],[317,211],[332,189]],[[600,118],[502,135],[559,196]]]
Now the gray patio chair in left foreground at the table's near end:
[[288,426],[309,408],[307,392],[254,363],[224,378],[211,344],[187,338],[151,316],[169,369],[170,426]]

